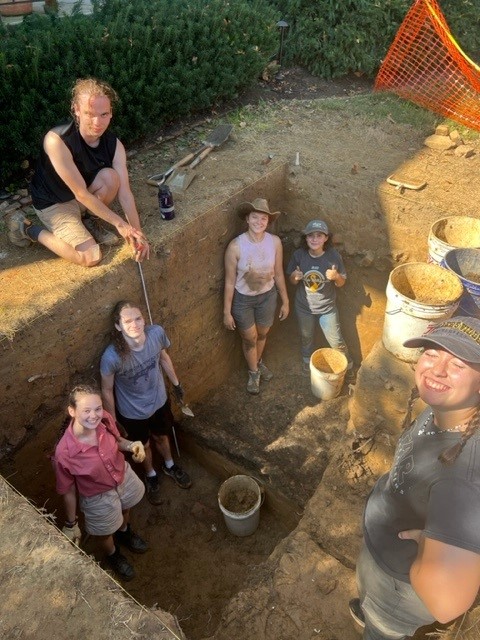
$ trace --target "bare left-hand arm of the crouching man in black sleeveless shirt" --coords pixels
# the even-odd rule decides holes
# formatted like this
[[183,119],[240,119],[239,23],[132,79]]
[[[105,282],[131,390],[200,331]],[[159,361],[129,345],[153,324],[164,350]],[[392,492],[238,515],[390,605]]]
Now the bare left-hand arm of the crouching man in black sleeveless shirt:
[[[109,209],[87,188],[86,182],[78,170],[73,156],[63,140],[53,131],[49,131],[43,143],[45,153],[53,168],[78,200],[93,214],[114,226],[129,244],[145,241],[144,235],[131,224],[127,224],[119,215]],[[117,143],[118,146],[118,143]],[[116,154],[115,154],[116,155]]]

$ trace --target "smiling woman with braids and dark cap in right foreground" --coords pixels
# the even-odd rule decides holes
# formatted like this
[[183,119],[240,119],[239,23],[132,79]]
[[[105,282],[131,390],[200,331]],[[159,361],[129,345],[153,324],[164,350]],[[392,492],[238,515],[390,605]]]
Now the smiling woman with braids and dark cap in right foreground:
[[[368,497],[352,616],[400,640],[465,613],[480,588],[480,319],[441,322],[423,347],[393,467]],[[410,424],[413,402],[428,406]]]

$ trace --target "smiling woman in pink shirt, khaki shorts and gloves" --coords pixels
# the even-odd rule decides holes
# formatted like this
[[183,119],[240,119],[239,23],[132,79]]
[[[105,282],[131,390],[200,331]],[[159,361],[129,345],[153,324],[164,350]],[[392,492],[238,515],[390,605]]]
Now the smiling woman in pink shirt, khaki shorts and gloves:
[[80,541],[78,501],[85,529],[98,538],[107,565],[124,580],[131,580],[135,572],[118,545],[134,553],[145,553],[148,548],[129,524],[130,509],[142,499],[145,487],[122,452],[131,452],[135,462],[142,462],[143,445],[122,438],[112,416],[103,410],[95,386],[78,385],[72,390],[68,414],[70,422],[53,458],[57,492],[65,504],[62,531],[72,542]]

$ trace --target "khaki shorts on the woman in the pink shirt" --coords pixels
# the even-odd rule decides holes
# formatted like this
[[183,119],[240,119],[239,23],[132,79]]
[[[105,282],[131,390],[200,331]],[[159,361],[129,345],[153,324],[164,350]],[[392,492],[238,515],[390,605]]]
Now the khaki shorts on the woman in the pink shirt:
[[123,523],[122,511],[140,502],[145,485],[125,461],[122,484],[96,496],[80,496],[80,509],[85,516],[85,529],[92,536],[109,536]]

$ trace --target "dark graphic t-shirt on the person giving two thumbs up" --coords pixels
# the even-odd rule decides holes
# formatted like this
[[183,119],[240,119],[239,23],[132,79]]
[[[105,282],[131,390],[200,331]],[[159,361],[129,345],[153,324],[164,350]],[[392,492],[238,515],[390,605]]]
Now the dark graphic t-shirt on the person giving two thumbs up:
[[325,273],[333,266],[344,278],[345,267],[341,255],[336,249],[327,249],[319,257],[312,257],[306,249],[297,249],[287,267],[291,275],[297,267],[303,273],[303,282],[299,282],[295,293],[295,308],[303,313],[320,315],[335,308],[335,283],[327,280]]

